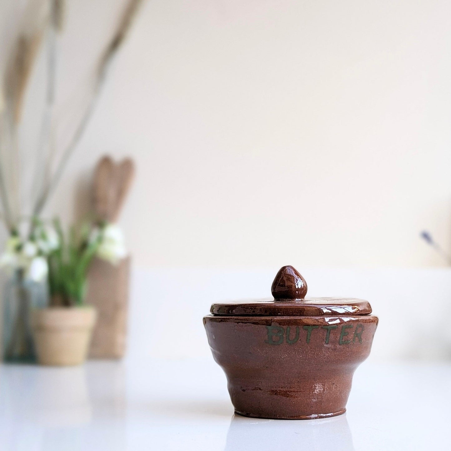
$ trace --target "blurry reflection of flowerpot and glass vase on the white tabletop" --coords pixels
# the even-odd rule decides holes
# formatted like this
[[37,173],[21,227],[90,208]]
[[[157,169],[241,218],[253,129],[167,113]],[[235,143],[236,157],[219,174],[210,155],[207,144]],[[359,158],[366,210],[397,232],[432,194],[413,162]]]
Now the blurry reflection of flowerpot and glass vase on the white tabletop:
[[[124,368],[3,365],[2,450],[124,450]],[[108,424],[108,433],[102,428]]]

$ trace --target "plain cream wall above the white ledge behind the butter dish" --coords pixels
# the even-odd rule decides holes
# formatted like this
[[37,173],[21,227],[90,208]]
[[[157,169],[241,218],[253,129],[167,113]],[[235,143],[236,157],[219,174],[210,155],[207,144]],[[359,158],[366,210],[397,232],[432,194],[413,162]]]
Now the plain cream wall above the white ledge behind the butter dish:
[[[0,5],[5,47],[19,4]],[[61,111],[123,5],[68,1]],[[419,231],[451,247],[450,13],[446,0],[148,0],[46,214],[69,220],[109,152],[137,163],[121,224],[139,267],[442,265]]]

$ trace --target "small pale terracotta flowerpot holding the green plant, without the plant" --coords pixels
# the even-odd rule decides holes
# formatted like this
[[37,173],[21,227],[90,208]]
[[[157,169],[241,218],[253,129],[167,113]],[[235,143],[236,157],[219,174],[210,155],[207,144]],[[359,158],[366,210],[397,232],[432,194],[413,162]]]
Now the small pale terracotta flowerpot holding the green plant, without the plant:
[[79,365],[86,360],[96,310],[91,306],[50,307],[33,312],[38,363]]

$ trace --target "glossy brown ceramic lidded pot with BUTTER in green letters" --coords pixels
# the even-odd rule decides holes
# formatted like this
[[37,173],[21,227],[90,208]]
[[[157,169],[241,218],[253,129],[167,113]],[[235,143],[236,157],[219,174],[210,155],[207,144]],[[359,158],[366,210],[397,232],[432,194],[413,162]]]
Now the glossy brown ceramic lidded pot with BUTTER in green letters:
[[272,284],[273,300],[213,304],[203,318],[236,413],[311,419],[345,412],[378,319],[367,301],[306,294],[304,278],[284,266]]

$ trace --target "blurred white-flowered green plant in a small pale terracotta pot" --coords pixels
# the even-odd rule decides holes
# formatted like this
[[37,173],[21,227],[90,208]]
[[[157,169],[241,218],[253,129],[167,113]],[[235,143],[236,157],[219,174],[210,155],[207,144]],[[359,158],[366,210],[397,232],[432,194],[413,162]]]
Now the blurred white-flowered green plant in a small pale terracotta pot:
[[94,256],[115,263],[125,249],[120,229],[112,224],[72,227],[65,237],[54,222],[59,246],[47,256],[50,306],[32,313],[38,363],[78,365],[87,350],[96,321],[96,310],[85,304],[87,271]]

